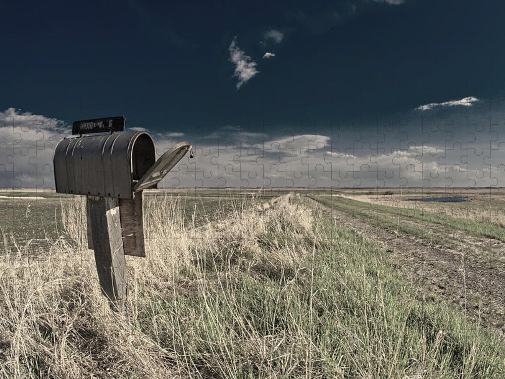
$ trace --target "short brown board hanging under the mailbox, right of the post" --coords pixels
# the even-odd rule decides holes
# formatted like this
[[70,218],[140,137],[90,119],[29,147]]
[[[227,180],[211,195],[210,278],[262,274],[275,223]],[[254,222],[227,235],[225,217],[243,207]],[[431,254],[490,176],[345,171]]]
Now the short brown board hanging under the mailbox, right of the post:
[[139,191],[133,200],[119,199],[124,251],[135,257],[145,257],[142,198],[142,191]]

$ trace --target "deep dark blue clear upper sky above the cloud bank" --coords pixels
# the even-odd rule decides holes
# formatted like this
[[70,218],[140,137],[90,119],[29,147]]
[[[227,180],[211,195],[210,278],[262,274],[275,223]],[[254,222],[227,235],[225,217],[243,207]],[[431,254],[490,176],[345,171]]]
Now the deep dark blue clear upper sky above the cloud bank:
[[[159,131],[317,130],[503,93],[503,2],[388,3],[4,2],[0,108]],[[235,36],[259,71],[238,90]]]

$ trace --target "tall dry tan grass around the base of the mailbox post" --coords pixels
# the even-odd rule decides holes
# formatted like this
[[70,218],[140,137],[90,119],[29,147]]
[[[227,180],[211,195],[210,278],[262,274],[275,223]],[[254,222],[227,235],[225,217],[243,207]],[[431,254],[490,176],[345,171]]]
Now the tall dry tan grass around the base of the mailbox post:
[[152,338],[157,325],[170,322],[176,328],[183,320],[176,314],[171,320],[161,317],[146,326],[150,333],[143,333],[134,321],[142,318],[139,304],[149,308],[181,286],[204,291],[216,286],[194,262],[227,264],[230,250],[224,247],[232,244],[247,251],[238,257],[243,264],[271,270],[292,266],[302,251],[265,252],[258,236],[269,228],[275,231],[283,217],[289,218],[293,237],[297,229],[301,235],[312,228],[310,212],[288,199],[237,202],[226,220],[200,227],[190,222],[185,228],[177,202],[147,203],[147,258],[128,258],[126,317],[112,312],[100,293],[93,253],[86,247],[83,199],[67,202],[63,210],[65,238],[55,241],[46,256],[30,256],[29,247],[0,256],[0,377],[128,377],[129,371],[142,377],[189,377],[194,367],[184,351],[167,350]]

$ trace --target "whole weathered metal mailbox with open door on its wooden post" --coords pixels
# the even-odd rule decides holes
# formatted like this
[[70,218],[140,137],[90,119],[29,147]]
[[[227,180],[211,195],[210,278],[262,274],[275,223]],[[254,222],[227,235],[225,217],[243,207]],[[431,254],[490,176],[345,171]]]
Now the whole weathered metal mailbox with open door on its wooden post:
[[72,134],[78,136],[61,139],[54,155],[56,192],[87,198],[88,248],[100,288],[116,311],[126,304],[125,255],[145,257],[142,191],[156,188],[191,151],[183,142],[156,161],[153,138],[124,128],[124,117],[76,121]]

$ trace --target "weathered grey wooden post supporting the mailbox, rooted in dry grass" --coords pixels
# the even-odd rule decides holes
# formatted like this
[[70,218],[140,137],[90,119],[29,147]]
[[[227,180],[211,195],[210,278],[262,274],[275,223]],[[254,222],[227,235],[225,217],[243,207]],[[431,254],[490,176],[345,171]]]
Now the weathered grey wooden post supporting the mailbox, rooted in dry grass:
[[126,257],[119,216],[119,199],[87,196],[98,279],[111,308],[123,311],[127,294]]

